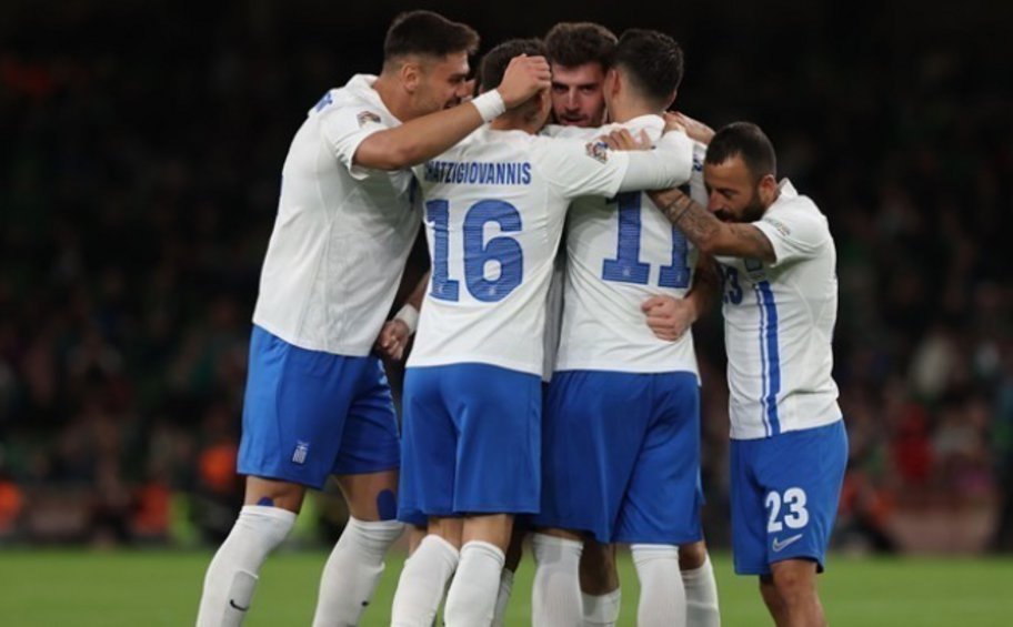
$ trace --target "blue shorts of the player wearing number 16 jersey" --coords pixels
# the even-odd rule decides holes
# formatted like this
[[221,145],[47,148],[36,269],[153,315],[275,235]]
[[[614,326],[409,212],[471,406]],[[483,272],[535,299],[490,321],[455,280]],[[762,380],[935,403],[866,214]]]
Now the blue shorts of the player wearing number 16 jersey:
[[398,491],[408,522],[538,510],[540,385],[487,364],[408,368]]

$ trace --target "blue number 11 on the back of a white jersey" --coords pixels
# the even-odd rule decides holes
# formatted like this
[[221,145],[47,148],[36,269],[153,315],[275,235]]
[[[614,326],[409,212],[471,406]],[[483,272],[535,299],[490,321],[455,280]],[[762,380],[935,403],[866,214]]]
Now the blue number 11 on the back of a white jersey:
[[[640,261],[641,198],[640,192],[625,192],[615,196],[619,203],[619,250],[615,259],[602,262],[602,279],[605,281],[648,284],[651,265]],[[685,235],[672,226],[672,264],[661,267],[659,286],[684,289],[690,285],[688,252]]]

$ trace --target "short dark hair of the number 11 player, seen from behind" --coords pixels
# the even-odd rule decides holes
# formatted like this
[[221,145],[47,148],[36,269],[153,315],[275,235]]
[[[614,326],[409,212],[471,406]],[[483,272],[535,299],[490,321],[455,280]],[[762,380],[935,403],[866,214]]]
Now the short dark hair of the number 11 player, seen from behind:
[[668,105],[682,82],[682,48],[656,30],[630,29],[615,47],[616,69],[630,78],[633,88],[659,105]]

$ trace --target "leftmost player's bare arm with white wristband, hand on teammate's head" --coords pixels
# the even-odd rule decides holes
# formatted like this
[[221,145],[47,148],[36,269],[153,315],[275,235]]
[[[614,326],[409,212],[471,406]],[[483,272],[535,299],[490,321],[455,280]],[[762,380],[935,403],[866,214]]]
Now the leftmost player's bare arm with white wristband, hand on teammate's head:
[[548,89],[551,72],[544,57],[514,57],[500,85],[479,98],[372,133],[359,144],[354,165],[402,170],[447,151],[484,122]]

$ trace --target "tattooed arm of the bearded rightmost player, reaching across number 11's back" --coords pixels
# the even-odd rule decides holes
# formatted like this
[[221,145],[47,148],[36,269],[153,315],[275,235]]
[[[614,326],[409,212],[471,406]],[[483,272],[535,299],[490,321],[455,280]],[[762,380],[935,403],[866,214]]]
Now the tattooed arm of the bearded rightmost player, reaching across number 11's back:
[[776,261],[770,239],[756,226],[722,222],[676,189],[648,192],[648,195],[702,253],[758,259],[768,263]]

